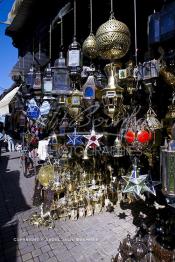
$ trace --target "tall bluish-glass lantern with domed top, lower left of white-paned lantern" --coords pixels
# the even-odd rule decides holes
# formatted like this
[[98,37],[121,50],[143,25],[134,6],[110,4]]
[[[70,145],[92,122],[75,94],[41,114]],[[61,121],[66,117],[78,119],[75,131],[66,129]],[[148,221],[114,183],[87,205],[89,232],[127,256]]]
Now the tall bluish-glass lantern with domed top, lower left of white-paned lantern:
[[69,72],[63,53],[60,52],[59,58],[55,61],[53,72],[53,93],[68,94],[70,92]]

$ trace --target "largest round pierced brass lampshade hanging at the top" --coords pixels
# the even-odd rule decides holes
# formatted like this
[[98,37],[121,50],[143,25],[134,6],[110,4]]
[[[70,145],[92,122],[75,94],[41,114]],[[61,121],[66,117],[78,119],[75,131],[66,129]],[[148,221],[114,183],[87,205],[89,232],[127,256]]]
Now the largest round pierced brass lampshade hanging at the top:
[[98,28],[96,44],[98,54],[103,59],[120,59],[129,50],[129,29],[124,23],[112,16]]

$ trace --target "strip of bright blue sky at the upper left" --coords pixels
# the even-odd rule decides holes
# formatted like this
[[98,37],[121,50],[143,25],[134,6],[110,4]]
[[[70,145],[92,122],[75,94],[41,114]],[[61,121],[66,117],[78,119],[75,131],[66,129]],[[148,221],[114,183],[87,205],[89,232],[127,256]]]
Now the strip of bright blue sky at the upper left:
[[[14,0],[0,0],[0,21],[6,21]],[[0,94],[8,89],[13,81],[9,74],[18,59],[18,50],[12,45],[12,39],[5,35],[7,25],[0,24]]]

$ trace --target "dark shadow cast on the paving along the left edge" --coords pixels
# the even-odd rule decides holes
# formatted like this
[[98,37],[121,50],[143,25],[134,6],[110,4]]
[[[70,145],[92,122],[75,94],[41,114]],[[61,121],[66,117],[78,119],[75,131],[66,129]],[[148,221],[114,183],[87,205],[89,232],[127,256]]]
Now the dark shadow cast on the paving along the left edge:
[[9,171],[8,155],[0,157],[0,261],[15,262],[18,256],[18,212],[30,207],[22,194],[19,170]]

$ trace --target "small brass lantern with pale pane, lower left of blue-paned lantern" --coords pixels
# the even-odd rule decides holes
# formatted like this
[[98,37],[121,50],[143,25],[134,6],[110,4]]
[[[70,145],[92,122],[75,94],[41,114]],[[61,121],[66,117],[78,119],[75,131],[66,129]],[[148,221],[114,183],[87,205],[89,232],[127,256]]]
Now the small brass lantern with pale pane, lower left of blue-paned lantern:
[[[76,118],[81,112],[81,101],[83,93],[74,89],[70,97],[67,98],[68,111],[72,118]],[[81,120],[81,119],[78,119]]]

